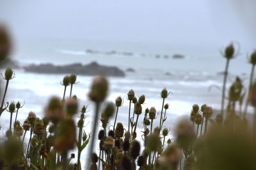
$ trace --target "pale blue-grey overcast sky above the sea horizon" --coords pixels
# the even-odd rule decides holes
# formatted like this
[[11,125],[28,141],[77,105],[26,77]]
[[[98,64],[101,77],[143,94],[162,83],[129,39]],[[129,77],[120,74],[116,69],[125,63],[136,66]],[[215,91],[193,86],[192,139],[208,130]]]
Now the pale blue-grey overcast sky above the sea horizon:
[[255,48],[254,0],[0,1],[17,39],[103,39]]

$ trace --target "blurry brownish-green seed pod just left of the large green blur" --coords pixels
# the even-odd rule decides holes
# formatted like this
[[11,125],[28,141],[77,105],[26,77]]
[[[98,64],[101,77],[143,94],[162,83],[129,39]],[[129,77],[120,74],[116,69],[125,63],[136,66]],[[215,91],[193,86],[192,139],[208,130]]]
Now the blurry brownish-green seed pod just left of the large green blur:
[[187,120],[181,120],[176,128],[177,143],[180,148],[188,148],[196,139],[193,125]]

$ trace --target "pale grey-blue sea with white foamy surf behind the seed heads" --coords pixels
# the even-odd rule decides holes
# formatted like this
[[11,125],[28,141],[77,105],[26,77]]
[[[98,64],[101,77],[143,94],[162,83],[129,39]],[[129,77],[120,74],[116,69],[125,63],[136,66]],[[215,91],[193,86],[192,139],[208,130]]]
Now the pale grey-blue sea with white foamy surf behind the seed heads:
[[[86,50],[95,50],[101,53],[88,53]],[[20,66],[28,64],[49,63],[56,65],[81,62],[88,64],[97,61],[99,64],[117,66],[125,71],[124,78],[109,77],[109,93],[106,101],[115,102],[116,97],[121,96],[124,104],[119,109],[117,122],[122,122],[127,127],[128,107],[127,92],[133,89],[136,97],[145,95],[143,110],[152,106],[161,111],[162,99],[160,92],[166,88],[172,92],[166,103],[170,104],[167,111],[167,120],[164,126],[170,128],[172,135],[177,120],[182,116],[189,116],[192,105],[208,104],[220,109],[221,88],[225,59],[221,56],[220,48],[201,48],[182,45],[148,45],[140,43],[116,43],[107,41],[89,40],[31,40],[17,44],[12,54],[12,59],[17,60]],[[129,52],[132,55],[120,55],[120,53],[106,54],[106,52]],[[184,55],[184,59],[173,59],[175,54]],[[157,57],[159,56],[159,57]],[[168,56],[168,57],[164,57]],[[134,72],[127,72],[128,68]],[[230,62],[230,71],[227,82],[227,90],[236,76],[240,76],[244,86],[248,87],[248,76],[251,66],[246,57],[240,55]],[[26,73],[22,69],[15,71],[15,78],[10,81],[6,96],[7,101],[20,101],[24,107],[19,110],[18,119],[21,123],[28,116],[29,111],[35,111],[39,117],[44,117],[44,109],[51,96],[63,96],[64,87],[60,82],[65,74],[36,74]],[[1,69],[4,73],[4,69]],[[79,108],[88,106],[84,131],[90,132],[90,118],[93,114],[93,103],[88,99],[88,91],[92,76],[77,76],[77,84],[74,85],[72,94],[79,99]],[[1,80],[1,85],[4,81]],[[1,89],[3,90],[3,89]],[[70,89],[67,89],[68,96]],[[2,92],[3,93],[3,92]],[[227,102],[226,102],[227,103]],[[132,107],[133,108],[133,107]],[[250,108],[251,110],[251,108]],[[214,113],[217,114],[217,113]],[[76,115],[78,118],[79,114]],[[0,119],[2,126],[0,136],[10,124],[10,113],[4,111]],[[159,121],[159,116],[157,118]],[[14,118],[13,118],[14,121]],[[139,118],[139,131],[143,129],[143,117]],[[113,123],[113,119],[111,120]],[[155,125],[159,122],[154,123]],[[99,122],[100,127],[100,122]],[[141,133],[138,131],[138,137]],[[170,135],[170,138],[172,138]],[[28,137],[28,136],[27,136]],[[3,138],[2,138],[3,139]],[[74,150],[75,152],[75,150]],[[75,152],[76,153],[76,152]],[[83,153],[85,156],[85,154]],[[83,157],[84,158],[84,157]],[[84,162],[83,162],[84,164]]]

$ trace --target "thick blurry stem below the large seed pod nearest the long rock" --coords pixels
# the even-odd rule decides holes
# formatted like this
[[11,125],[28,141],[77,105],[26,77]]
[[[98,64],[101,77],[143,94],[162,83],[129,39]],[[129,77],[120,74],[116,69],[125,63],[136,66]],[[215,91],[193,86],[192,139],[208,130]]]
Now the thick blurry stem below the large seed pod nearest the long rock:
[[96,128],[97,128],[97,117],[99,113],[99,106],[100,106],[100,103],[95,104],[95,114],[94,114],[93,129],[92,129],[92,142],[91,142],[90,152],[88,152],[88,157],[87,157],[88,163],[86,164],[86,169],[90,169],[91,155],[94,147],[94,140],[95,140],[95,134],[96,134]]

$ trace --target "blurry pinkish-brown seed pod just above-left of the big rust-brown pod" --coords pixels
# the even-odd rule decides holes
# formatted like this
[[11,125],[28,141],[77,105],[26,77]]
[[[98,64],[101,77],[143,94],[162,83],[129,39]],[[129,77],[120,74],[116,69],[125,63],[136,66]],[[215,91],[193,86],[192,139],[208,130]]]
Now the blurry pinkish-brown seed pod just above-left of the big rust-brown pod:
[[52,97],[50,99],[45,110],[45,117],[49,118],[53,124],[58,124],[64,118],[63,107],[58,97]]

